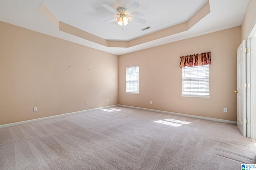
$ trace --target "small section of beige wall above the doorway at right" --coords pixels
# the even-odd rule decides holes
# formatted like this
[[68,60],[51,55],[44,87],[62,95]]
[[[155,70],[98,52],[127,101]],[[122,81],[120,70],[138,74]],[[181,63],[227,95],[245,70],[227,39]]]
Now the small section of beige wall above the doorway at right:
[[242,22],[242,40],[245,40],[254,24],[256,24],[256,0],[249,0],[244,20]]

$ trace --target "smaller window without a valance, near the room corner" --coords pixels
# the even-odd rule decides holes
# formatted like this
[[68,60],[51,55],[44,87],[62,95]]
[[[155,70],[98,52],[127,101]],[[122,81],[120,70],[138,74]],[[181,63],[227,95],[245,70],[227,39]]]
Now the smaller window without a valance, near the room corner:
[[126,93],[139,93],[139,66],[126,67]]

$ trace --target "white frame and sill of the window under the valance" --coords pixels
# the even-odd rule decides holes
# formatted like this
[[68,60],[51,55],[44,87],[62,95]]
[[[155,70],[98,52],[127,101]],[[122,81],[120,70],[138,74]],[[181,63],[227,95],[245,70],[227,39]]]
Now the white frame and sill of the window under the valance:
[[[203,66],[208,66],[208,75],[206,75],[206,76],[208,76],[208,91],[209,91],[209,94],[183,94],[184,93],[184,82],[183,82],[183,80],[184,80],[184,78],[183,78],[183,76],[184,76],[184,69],[189,69],[189,68],[193,68],[193,67],[182,67],[182,94],[181,94],[181,96],[182,97],[192,97],[192,98],[210,98],[211,96],[210,96],[210,66],[209,65],[203,65]],[[198,66],[194,66],[194,67],[198,67]],[[207,81],[207,80],[206,80]]]

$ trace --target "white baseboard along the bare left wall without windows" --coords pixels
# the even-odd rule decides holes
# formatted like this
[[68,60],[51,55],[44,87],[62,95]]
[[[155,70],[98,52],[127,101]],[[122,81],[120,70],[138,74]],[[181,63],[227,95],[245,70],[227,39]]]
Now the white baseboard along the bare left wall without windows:
[[105,107],[98,107],[98,108],[94,108],[94,109],[87,109],[87,110],[82,110],[82,111],[75,111],[75,112],[71,112],[71,113],[64,113],[61,115],[54,115],[54,116],[48,116],[48,117],[42,117],[42,118],[38,118],[38,119],[31,119],[31,120],[26,120],[26,121],[19,121],[19,122],[15,122],[15,123],[8,123],[8,124],[4,124],[4,125],[0,125],[0,128],[2,127],[9,127],[9,126],[14,126],[14,125],[20,125],[23,123],[30,123],[33,121],[40,121],[40,120],[45,120],[45,119],[53,119],[55,117],[62,117],[62,116],[67,116],[67,115],[73,115],[73,114],[77,114],[77,113],[84,113],[87,111],[93,111],[93,110],[98,110],[98,109],[106,109],[108,107],[115,107],[118,105],[112,105],[112,106],[105,106]]

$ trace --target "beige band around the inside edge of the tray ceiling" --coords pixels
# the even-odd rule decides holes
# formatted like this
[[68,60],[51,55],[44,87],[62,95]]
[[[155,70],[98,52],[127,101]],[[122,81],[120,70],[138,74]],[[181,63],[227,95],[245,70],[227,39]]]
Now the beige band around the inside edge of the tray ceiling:
[[68,25],[64,22],[61,22],[54,16],[54,14],[52,14],[52,12],[43,3],[39,8],[39,12],[60,31],[69,33],[71,35],[75,35],[77,37],[86,39],[88,41],[91,41],[100,45],[104,45],[106,47],[129,48],[129,47],[140,45],[146,42],[154,41],[156,39],[160,39],[160,38],[181,33],[184,31],[188,31],[191,27],[193,27],[196,23],[198,23],[200,20],[202,20],[206,15],[210,13],[210,3],[208,1],[188,21],[179,23],[177,25],[173,25],[171,27],[162,29],[160,31],[156,31],[154,33],[150,33],[148,35],[145,35],[136,39],[132,39],[130,41],[109,41],[101,37],[98,37],[96,35],[93,35],[91,33],[88,33],[82,29],[73,27],[72,25]]

